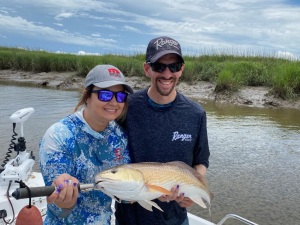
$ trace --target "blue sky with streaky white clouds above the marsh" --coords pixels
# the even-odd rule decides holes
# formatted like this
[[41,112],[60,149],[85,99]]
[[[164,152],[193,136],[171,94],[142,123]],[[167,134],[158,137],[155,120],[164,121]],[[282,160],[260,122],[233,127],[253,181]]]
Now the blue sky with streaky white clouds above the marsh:
[[300,58],[300,0],[0,0],[0,46],[144,54],[158,36],[184,55]]

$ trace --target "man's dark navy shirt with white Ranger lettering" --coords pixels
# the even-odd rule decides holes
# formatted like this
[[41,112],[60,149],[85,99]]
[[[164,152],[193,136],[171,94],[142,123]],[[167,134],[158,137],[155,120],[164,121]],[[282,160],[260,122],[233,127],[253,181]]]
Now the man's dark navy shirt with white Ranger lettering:
[[[209,166],[206,113],[196,102],[177,93],[168,105],[155,104],[141,90],[130,96],[125,127],[132,162],[183,161],[191,167]],[[153,212],[138,203],[116,204],[120,225],[180,225],[187,217],[175,201],[155,200]]]

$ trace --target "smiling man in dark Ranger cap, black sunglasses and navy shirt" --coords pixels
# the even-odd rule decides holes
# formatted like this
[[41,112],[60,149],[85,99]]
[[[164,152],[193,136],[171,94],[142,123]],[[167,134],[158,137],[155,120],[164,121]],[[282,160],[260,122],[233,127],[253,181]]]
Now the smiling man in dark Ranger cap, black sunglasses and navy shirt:
[[[176,91],[184,70],[180,44],[169,37],[152,39],[144,71],[150,87],[131,95],[125,127],[133,163],[183,161],[205,176],[210,155],[206,113],[196,102]],[[193,202],[180,187],[155,202],[153,212],[138,203],[116,204],[119,225],[188,225],[187,210]],[[179,194],[179,197],[177,197]]]

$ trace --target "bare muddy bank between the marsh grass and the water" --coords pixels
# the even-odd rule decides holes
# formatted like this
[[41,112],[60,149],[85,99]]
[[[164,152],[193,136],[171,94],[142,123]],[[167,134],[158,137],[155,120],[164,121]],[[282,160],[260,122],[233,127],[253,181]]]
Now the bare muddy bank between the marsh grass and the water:
[[[149,81],[140,77],[127,77],[127,82],[135,90],[147,87]],[[75,72],[67,73],[32,73],[24,71],[0,70],[0,83],[24,83],[41,87],[57,89],[81,90],[84,78],[76,76]],[[289,101],[269,95],[266,87],[244,87],[234,94],[215,94],[215,85],[208,82],[198,82],[193,85],[181,82],[177,90],[185,95],[202,99],[213,100],[218,103],[247,105],[249,107],[284,107],[300,109],[300,100]]]

